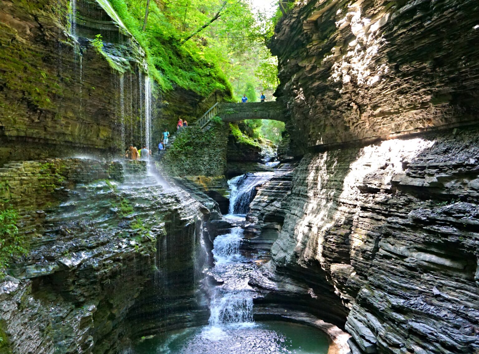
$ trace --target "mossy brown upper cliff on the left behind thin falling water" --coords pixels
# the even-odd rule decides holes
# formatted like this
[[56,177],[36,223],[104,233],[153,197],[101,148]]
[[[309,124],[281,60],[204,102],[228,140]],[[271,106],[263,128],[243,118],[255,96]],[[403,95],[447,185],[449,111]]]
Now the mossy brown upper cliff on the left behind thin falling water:
[[2,1],[0,48],[0,163],[117,154],[146,142],[148,114],[156,146],[178,116],[191,122],[224,96],[160,92],[108,1]]

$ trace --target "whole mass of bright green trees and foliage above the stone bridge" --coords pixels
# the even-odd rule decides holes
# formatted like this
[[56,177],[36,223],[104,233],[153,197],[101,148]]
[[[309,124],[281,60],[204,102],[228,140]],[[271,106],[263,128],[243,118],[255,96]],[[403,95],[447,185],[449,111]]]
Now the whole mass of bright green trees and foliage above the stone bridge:
[[110,0],[163,89],[179,85],[202,95],[219,89],[234,101],[248,92],[253,102],[260,91],[271,99],[278,81],[266,47],[275,20],[250,1]]

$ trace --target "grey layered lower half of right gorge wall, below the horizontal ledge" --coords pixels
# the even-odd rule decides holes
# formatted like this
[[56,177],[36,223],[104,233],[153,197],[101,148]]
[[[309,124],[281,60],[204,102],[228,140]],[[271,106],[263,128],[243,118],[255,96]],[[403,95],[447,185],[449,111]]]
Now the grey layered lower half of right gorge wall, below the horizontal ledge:
[[259,301],[345,322],[364,353],[477,352],[478,146],[455,129],[305,155]]

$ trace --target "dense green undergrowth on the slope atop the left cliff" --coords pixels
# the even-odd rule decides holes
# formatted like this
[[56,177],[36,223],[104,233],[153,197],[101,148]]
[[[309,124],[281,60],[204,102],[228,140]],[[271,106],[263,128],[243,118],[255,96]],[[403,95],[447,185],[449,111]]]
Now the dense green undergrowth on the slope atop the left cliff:
[[204,48],[194,42],[181,46],[183,34],[175,26],[179,19],[175,3],[167,3],[161,10],[151,1],[145,32],[141,30],[145,1],[111,0],[110,3],[145,49],[149,73],[163,90],[179,85],[205,96],[215,90],[231,91],[228,79],[215,65],[215,58],[205,55]]

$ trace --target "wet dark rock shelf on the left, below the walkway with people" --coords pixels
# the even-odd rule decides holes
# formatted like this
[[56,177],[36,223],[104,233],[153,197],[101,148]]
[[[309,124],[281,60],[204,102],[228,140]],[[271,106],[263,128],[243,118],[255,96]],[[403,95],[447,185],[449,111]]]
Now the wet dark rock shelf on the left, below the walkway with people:
[[[13,353],[117,353],[159,331],[163,308],[178,309],[172,327],[206,316],[195,290],[209,210],[189,194],[152,183],[143,161],[52,159],[5,170],[0,179],[22,181],[10,204],[29,243],[10,263],[14,278],[0,283],[0,327]],[[16,197],[25,188],[36,194],[28,203]]]

